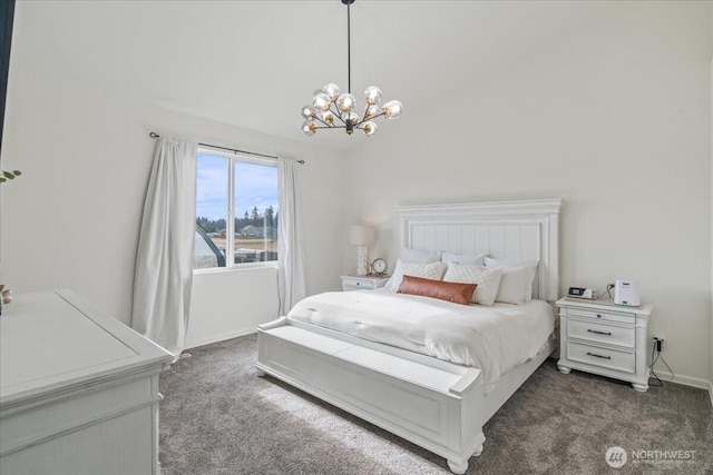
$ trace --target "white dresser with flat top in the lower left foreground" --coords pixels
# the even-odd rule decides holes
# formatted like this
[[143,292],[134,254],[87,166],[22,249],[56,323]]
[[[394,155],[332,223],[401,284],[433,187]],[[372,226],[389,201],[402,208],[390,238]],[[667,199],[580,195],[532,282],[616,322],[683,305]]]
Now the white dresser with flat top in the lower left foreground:
[[0,317],[0,473],[158,474],[158,375],[173,360],[61,290]]

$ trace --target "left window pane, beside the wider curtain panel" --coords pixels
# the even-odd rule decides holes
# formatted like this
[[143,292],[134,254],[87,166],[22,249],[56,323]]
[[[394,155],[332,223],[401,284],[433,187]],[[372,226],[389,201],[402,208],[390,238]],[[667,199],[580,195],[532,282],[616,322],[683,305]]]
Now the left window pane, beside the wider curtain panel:
[[228,159],[198,152],[194,269],[225,267]]

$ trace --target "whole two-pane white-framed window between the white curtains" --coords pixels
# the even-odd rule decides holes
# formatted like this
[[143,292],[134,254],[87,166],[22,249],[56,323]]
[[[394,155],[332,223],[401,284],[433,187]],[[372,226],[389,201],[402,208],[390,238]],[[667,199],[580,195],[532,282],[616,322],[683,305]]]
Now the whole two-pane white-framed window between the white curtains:
[[198,149],[193,268],[276,261],[277,204],[276,162]]

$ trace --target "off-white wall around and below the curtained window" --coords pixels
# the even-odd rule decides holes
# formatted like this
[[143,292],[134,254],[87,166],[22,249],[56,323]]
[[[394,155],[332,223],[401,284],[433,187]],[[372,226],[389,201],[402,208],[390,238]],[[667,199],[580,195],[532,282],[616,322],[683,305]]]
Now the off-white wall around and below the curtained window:
[[[304,159],[307,291],[339,288],[341,246],[332,237],[342,232],[341,222],[324,219],[342,205],[334,154],[191,117],[72,76],[79,52],[47,53],[52,37],[42,26],[51,18],[42,11],[22,2],[16,10],[2,165],[23,175],[1,189],[1,280],[8,287],[16,293],[71,288],[130,321],[138,228],[155,147],[148,132],[155,130]],[[71,34],[71,24],[65,31]],[[276,317],[274,268],[202,274],[194,281],[188,346]]]

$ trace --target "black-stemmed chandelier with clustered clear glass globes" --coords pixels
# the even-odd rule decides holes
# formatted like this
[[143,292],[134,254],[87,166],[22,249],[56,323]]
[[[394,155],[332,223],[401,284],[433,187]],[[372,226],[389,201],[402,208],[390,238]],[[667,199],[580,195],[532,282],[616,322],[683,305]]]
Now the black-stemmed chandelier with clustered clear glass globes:
[[[316,91],[312,105],[302,108],[302,117],[306,120],[302,123],[302,132],[313,136],[318,129],[345,129],[346,133],[354,133],[354,129],[363,130],[371,137],[377,133],[377,123],[373,119],[383,116],[387,119],[398,119],[403,111],[403,106],[398,100],[379,106],[381,89],[369,86],[364,90],[367,106],[360,116],[354,111],[356,100],[352,96],[352,52],[351,52],[351,17],[350,6],[354,0],[341,0],[346,6],[346,73],[348,89],[342,92],[339,86],[330,82],[322,90]],[[321,123],[318,125],[318,122]]]

